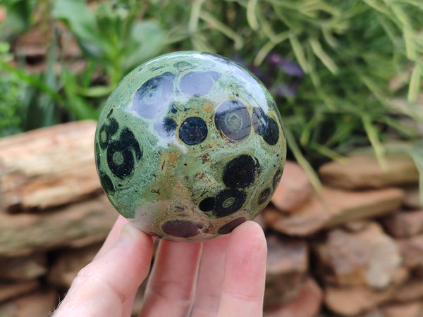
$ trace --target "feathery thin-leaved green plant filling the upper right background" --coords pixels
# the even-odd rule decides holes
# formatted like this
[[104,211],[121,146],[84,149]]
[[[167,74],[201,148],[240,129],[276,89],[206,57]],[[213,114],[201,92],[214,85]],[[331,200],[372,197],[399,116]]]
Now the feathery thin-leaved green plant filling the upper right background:
[[[313,175],[325,157],[369,143],[384,166],[387,130],[419,139],[399,119],[423,120],[422,13],[419,0],[196,0],[188,30],[195,49],[256,71],[274,92],[291,152]],[[405,80],[390,89],[396,77]]]

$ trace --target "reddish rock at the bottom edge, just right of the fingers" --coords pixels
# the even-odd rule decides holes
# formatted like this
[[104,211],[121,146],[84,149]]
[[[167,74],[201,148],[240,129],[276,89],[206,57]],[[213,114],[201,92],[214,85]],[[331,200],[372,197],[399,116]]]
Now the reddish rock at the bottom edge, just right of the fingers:
[[321,309],[323,294],[317,282],[307,278],[295,299],[264,311],[264,317],[313,317]]

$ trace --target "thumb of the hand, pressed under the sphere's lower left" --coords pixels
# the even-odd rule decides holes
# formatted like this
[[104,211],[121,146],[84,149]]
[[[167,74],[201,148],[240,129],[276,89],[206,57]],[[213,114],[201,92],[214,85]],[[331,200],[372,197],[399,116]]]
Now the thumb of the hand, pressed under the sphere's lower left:
[[121,316],[123,303],[147,277],[153,239],[130,223],[114,247],[82,268],[54,317]]

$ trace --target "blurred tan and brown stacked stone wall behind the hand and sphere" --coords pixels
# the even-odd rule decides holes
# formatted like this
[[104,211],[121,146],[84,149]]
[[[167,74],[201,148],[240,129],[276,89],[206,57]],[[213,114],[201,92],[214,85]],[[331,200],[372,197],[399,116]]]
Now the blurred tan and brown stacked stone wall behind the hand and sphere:
[[[0,139],[0,316],[48,316],[117,213],[94,166],[95,123]],[[407,156],[297,163],[257,221],[266,232],[264,316],[423,316],[423,208]],[[135,301],[140,310],[142,290]]]

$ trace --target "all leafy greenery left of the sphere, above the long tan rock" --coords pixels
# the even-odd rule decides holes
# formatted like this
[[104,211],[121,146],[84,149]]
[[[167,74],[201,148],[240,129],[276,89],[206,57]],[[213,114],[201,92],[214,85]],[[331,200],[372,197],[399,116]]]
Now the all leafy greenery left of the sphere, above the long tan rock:
[[[121,78],[165,45],[164,30],[157,20],[142,19],[143,11],[145,5],[135,0],[102,1],[95,8],[84,0],[9,1],[6,20],[0,21],[4,44],[9,48],[6,41],[18,38],[32,25],[49,26],[49,44],[45,70],[40,73],[28,71],[25,61],[14,56],[13,47],[7,60],[0,59],[4,77],[0,99],[8,100],[1,107],[1,119],[9,123],[4,128],[0,123],[0,135],[68,120],[97,119],[102,103]],[[68,37],[57,27],[57,20],[66,23],[78,40],[87,63],[82,73],[71,70],[64,59]],[[105,81],[94,84],[94,74],[104,74]],[[13,100],[20,102],[13,104]]]

